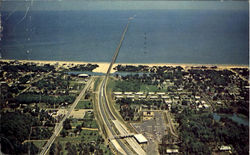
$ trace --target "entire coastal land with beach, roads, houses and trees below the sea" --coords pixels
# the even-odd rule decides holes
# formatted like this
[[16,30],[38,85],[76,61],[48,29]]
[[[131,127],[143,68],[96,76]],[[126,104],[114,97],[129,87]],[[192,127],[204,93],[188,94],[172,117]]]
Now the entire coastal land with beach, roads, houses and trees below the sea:
[[248,152],[249,66],[116,63],[104,88],[109,65],[1,59],[1,151]]

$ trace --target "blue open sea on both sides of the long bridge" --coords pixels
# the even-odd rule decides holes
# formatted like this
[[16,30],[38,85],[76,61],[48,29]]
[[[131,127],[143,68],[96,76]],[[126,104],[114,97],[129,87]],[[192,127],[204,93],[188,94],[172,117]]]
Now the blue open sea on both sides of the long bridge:
[[[5,59],[249,64],[248,10],[3,11]],[[25,18],[24,18],[25,17]],[[23,20],[22,20],[23,19]]]

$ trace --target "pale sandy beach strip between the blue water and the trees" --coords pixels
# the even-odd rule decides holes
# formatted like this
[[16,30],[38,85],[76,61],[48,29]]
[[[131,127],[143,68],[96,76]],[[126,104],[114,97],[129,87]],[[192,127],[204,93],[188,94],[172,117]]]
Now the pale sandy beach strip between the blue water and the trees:
[[[15,61],[11,59],[0,59],[0,61],[3,62],[10,62]],[[51,64],[51,65],[80,65],[80,64],[97,64],[99,67],[93,70],[93,72],[100,72],[100,73],[106,73],[110,63],[109,62],[81,62],[81,61],[47,61],[47,60],[17,60],[22,63],[27,62],[33,62],[33,63],[39,63],[39,64]],[[111,69],[111,73],[115,72],[113,69],[117,65],[132,65],[132,66],[139,66],[139,65],[145,65],[149,67],[153,66],[181,66],[184,69],[189,69],[191,67],[213,67],[216,66],[217,69],[229,69],[229,68],[249,68],[249,65],[240,65],[240,64],[192,64],[192,63],[115,63]]]

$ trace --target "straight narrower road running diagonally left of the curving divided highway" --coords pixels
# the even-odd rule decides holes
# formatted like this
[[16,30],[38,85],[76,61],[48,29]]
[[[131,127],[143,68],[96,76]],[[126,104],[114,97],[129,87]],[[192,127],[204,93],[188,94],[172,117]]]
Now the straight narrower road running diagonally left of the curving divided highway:
[[72,106],[70,107],[70,109],[68,110],[68,113],[64,116],[64,118],[62,119],[62,121],[55,127],[55,131],[54,131],[53,135],[50,137],[49,141],[42,148],[42,151],[40,152],[40,155],[47,154],[47,152],[49,151],[51,145],[53,144],[53,142],[55,141],[56,137],[58,136],[58,134],[61,132],[61,130],[63,128],[63,122],[70,116],[71,112],[74,110],[74,108],[76,107],[77,103],[81,100],[81,98],[83,97],[83,95],[85,95],[85,93],[86,93],[87,89],[89,88],[92,80],[93,80],[92,78],[89,79],[88,83],[85,85],[85,87],[83,88],[83,90],[81,91],[81,93],[79,94],[79,96],[76,98],[76,100],[74,101],[74,103],[72,104]]

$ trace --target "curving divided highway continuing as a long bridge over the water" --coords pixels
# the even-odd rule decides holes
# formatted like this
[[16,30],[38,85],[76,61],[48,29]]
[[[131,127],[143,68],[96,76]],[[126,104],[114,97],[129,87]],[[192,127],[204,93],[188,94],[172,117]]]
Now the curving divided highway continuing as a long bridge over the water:
[[[121,40],[119,42],[119,45],[114,53],[114,56],[112,58],[112,61],[110,63],[110,66],[108,68],[108,71],[106,73],[106,76],[104,80],[102,81],[99,92],[98,92],[98,109],[99,109],[99,115],[101,116],[101,121],[104,124],[104,129],[107,133],[107,136],[111,143],[114,144],[114,147],[116,148],[117,152],[119,154],[139,154],[139,155],[146,155],[146,152],[141,148],[141,146],[138,144],[138,142],[134,138],[125,138],[124,140],[120,139],[114,139],[116,135],[126,135],[131,134],[126,126],[121,123],[118,119],[116,119],[116,116],[113,115],[112,110],[109,108],[108,99],[106,96],[106,85],[109,78],[110,71],[112,69],[113,64],[116,61],[116,58],[118,56],[119,50],[121,48],[122,42],[125,38],[125,34],[128,30],[128,26],[130,24],[129,19],[125,30],[122,34]],[[118,133],[116,133],[118,131]]]

